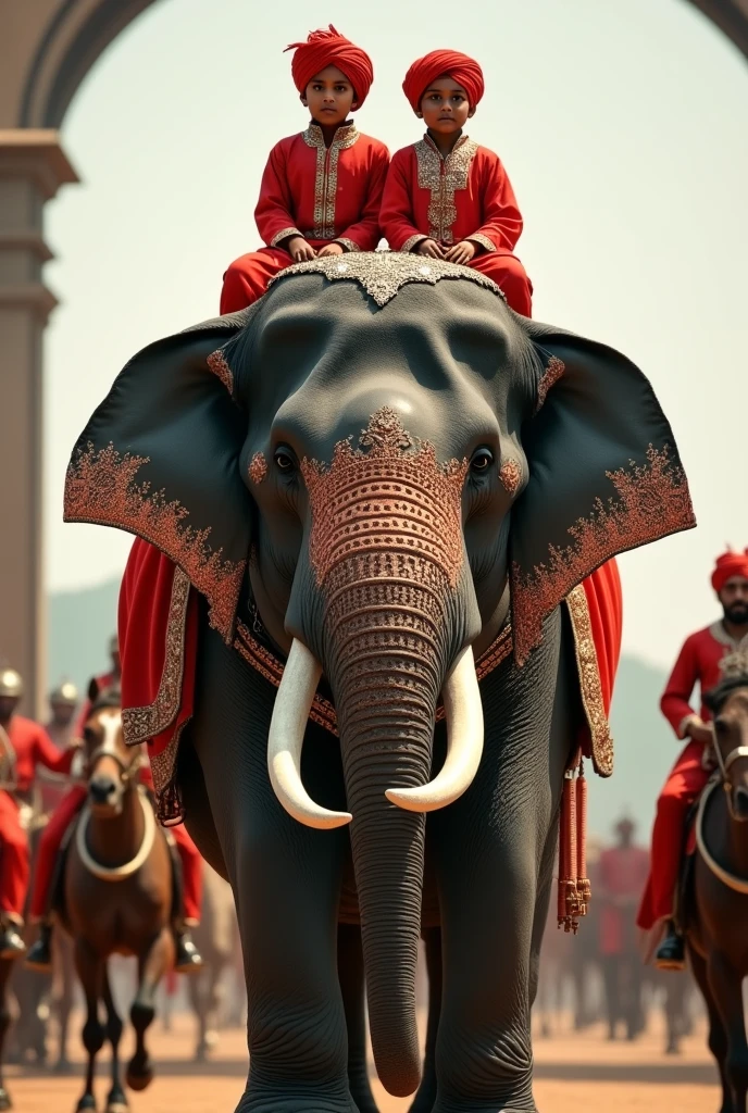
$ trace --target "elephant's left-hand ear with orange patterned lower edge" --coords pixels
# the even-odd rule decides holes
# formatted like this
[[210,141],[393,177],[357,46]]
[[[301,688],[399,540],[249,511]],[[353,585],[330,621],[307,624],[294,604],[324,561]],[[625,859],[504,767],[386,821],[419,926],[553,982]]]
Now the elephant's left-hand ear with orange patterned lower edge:
[[157,341],[115,380],[72,452],[66,522],[134,533],[166,553],[229,641],[253,505],[239,469],[247,416],[224,345],[255,307]]

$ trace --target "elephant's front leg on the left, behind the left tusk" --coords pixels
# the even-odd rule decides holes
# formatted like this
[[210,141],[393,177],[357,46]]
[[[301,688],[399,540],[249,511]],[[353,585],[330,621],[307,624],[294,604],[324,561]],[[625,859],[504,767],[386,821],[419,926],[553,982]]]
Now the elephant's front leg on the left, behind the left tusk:
[[[274,689],[205,631],[191,731],[239,920],[249,1077],[242,1113],[351,1113],[337,906],[346,830],[314,830],[280,807],[267,774]],[[339,750],[311,727],[302,774],[341,808]],[[193,828],[198,837],[199,823]],[[201,849],[201,847],[200,847]]]

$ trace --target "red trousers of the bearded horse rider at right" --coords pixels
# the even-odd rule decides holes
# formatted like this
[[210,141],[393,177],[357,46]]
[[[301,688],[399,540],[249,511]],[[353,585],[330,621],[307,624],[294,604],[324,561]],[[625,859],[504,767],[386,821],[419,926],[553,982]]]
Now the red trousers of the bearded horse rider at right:
[[690,741],[670,770],[657,801],[651,866],[637,916],[637,924],[647,932],[672,916],[686,814],[709,780],[709,770],[701,765],[702,756],[701,742]]

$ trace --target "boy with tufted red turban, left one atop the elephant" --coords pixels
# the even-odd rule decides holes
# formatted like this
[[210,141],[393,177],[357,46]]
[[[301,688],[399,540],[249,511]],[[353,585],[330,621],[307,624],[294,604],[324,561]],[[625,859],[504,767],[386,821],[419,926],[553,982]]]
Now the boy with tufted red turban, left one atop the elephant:
[[374,80],[361,47],[328,31],[295,42],[291,71],[312,119],[306,131],[282,139],[263,174],[255,220],[267,245],[243,255],[224,275],[220,312],[252,305],[279,270],[343,252],[373,252],[390,154],[362,135],[348,114]]

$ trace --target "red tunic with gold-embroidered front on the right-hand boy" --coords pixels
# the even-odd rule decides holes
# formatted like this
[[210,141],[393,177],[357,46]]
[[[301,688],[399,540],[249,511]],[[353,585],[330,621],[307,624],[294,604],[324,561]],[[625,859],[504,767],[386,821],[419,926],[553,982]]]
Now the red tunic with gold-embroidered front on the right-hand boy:
[[522,232],[501,159],[468,136],[446,158],[427,135],[398,150],[387,174],[380,223],[395,252],[410,252],[426,238],[444,245],[471,239],[486,253],[510,255]]

